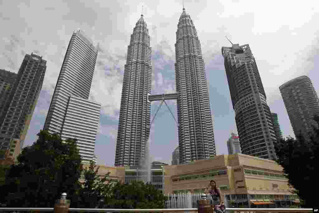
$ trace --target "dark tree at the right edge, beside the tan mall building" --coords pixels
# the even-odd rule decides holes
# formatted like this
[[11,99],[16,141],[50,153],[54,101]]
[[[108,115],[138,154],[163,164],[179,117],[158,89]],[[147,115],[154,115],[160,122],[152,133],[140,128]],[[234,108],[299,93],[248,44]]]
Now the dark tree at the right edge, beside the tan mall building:
[[[314,120],[319,125],[319,117]],[[275,147],[278,164],[284,168],[289,185],[295,188],[294,193],[303,200],[303,207],[316,204],[313,193],[318,191],[317,173],[319,169],[319,129],[313,126],[314,134],[306,140],[301,134],[297,140],[287,138]]]

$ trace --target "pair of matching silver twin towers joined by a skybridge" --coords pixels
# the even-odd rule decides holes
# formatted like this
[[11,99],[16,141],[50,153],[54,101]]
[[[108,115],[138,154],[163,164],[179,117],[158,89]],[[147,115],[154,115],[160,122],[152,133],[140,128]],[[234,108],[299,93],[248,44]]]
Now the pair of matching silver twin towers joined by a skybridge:
[[[143,15],[131,35],[116,141],[115,166],[137,166],[146,155],[150,134],[152,49]],[[176,93],[180,163],[216,155],[205,65],[196,28],[183,8],[175,43]],[[151,98],[152,97],[152,98]],[[165,94],[162,95],[165,99]],[[173,97],[173,98],[172,98]]]

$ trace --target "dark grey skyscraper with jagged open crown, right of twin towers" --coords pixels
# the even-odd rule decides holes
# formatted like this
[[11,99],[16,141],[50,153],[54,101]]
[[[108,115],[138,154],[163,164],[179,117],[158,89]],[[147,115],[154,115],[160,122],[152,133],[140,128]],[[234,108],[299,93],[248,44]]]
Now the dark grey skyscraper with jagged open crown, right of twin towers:
[[255,58],[249,45],[221,49],[228,80],[241,153],[275,160],[277,143],[270,109]]

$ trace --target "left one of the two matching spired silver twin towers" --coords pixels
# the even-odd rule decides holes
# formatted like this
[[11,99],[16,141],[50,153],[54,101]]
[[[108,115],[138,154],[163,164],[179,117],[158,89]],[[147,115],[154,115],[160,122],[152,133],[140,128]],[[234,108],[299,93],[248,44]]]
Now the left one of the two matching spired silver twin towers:
[[124,66],[115,166],[137,166],[145,158],[151,119],[147,97],[152,87],[151,54],[148,28],[141,15],[133,29]]

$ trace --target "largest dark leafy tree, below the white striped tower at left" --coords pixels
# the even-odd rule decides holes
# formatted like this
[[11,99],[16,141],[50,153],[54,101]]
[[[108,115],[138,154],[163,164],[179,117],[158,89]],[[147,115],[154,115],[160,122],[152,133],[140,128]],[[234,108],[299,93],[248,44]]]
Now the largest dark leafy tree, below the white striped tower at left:
[[57,134],[38,133],[12,165],[1,193],[8,207],[53,207],[63,192],[74,200],[80,189],[81,156],[76,139],[65,142]]

